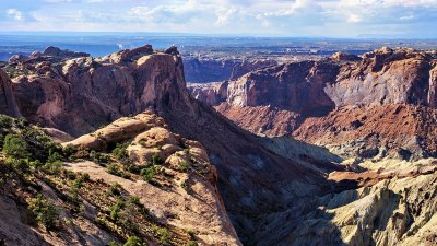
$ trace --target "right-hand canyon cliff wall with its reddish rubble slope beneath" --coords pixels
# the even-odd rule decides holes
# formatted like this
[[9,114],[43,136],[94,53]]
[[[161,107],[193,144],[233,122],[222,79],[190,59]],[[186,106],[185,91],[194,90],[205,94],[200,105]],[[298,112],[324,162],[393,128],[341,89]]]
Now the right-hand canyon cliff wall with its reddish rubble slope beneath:
[[[221,92],[220,96],[215,96],[220,97],[218,101],[205,102],[216,106],[216,109],[231,120],[256,133],[283,136],[294,132],[298,139],[319,144],[340,143],[343,140],[347,141],[346,138],[369,138],[362,129],[358,129],[362,132],[359,134],[350,130],[344,132],[350,127],[340,126],[342,125],[340,121],[338,125],[329,126],[333,122],[328,118],[336,119],[336,115],[340,114],[350,119],[350,124],[359,125],[361,119],[346,115],[359,114],[364,118],[374,118],[371,108],[381,106],[378,109],[381,118],[374,119],[374,129],[368,128],[374,134],[380,134],[378,139],[394,141],[389,144],[390,148],[402,148],[409,142],[406,144],[409,151],[421,156],[437,154],[432,141],[426,141],[428,144],[415,144],[413,148],[412,142],[415,141],[416,134],[425,139],[426,133],[409,132],[408,127],[404,127],[406,122],[401,118],[397,119],[399,121],[392,121],[390,128],[392,136],[379,132],[380,129],[377,127],[387,125],[383,116],[390,114],[389,105],[406,104],[412,107],[424,107],[418,109],[421,112],[429,112],[427,108],[435,109],[436,57],[433,52],[382,48],[365,54],[362,58],[335,54],[332,58],[321,61],[304,61],[253,71],[238,80],[226,82],[226,86],[223,87],[227,89],[225,98],[223,97],[225,93]],[[213,92],[216,92],[214,90],[209,91],[208,97],[203,96],[202,92],[208,90],[206,86],[198,89],[197,98],[214,98]],[[261,110],[263,107],[269,110]],[[336,110],[338,108],[342,109]],[[365,114],[368,115],[364,116]],[[429,124],[433,125],[430,119],[434,113],[429,114],[423,116],[424,120],[416,121],[417,128],[428,128]],[[311,119],[315,117],[323,118]],[[305,120],[308,122],[304,124]],[[326,126],[323,130],[318,130],[323,133],[307,130],[316,121]],[[330,132],[335,137],[328,138]],[[406,137],[401,139],[401,134]],[[334,139],[339,141],[332,141]],[[421,139],[417,141],[421,142]],[[377,142],[365,140],[363,144],[378,143],[380,145],[377,148],[382,148],[386,140]],[[422,149],[416,148],[417,145],[422,145]],[[343,149],[343,152],[346,152],[347,148]]]

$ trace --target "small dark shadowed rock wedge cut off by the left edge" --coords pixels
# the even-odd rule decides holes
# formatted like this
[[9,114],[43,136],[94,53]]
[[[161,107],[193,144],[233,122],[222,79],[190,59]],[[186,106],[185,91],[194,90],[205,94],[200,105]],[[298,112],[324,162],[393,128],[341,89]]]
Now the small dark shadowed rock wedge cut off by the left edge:
[[12,83],[8,74],[0,69],[0,114],[12,117],[20,117],[20,110],[15,103],[14,94],[12,93]]

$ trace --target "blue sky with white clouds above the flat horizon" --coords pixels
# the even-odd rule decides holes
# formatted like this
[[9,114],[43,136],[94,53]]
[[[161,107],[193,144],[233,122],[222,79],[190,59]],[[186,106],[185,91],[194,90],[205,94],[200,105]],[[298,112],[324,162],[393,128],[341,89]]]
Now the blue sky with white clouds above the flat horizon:
[[0,0],[1,31],[437,38],[437,0]]

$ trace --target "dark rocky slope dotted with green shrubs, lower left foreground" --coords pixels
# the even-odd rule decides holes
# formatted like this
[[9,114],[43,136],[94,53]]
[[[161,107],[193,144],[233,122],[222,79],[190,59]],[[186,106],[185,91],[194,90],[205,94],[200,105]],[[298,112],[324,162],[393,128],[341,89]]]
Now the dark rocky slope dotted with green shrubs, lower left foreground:
[[[107,185],[101,179],[91,180],[86,173],[74,173],[63,167],[67,160],[90,157],[99,164],[107,160],[108,173],[113,169],[122,177],[132,175],[132,178],[144,178],[160,185],[158,181],[166,177],[160,155],[151,157],[147,164],[137,165],[127,156],[127,144],[118,145],[118,150],[111,153],[72,145],[61,148],[38,127],[2,115],[0,133],[3,137],[0,142],[0,147],[3,147],[3,154],[0,154],[0,189],[15,197],[16,201],[26,201],[35,222],[51,233],[75,230],[79,226],[75,219],[83,216],[85,208],[91,204],[96,211],[93,222],[114,238],[125,239],[126,245],[146,245],[146,242],[164,246],[188,244],[189,238],[184,233],[178,229],[165,227],[151,214],[140,197],[129,196],[120,184]],[[7,136],[11,136],[8,137],[8,143]],[[50,196],[47,196],[47,189],[51,190]],[[51,199],[52,195],[57,198]],[[115,241],[108,245],[122,244]]]

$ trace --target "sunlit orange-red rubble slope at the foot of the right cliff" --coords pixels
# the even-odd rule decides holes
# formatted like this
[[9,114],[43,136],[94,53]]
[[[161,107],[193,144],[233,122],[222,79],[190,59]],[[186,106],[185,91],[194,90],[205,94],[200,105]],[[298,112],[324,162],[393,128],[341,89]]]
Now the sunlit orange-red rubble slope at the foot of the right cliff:
[[435,109],[413,105],[341,108],[309,118],[294,132],[349,157],[417,159],[435,155]]

